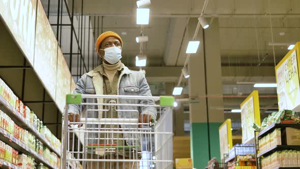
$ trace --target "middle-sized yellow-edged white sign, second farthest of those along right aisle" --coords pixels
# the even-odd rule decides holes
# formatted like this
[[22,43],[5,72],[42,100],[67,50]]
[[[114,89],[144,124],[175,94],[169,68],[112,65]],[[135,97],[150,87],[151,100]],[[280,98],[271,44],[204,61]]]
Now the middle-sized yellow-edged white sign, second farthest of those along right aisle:
[[241,104],[242,142],[254,143],[253,123],[260,126],[258,91],[253,91]]

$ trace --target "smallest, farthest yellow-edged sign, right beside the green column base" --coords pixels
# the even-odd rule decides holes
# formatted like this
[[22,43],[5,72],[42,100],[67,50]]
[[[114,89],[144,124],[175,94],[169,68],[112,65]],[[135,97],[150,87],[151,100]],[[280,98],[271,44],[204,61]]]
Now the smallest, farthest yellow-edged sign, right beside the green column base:
[[229,150],[232,148],[231,119],[227,119],[219,127],[219,139],[220,139],[221,161],[223,161],[224,154],[229,154]]

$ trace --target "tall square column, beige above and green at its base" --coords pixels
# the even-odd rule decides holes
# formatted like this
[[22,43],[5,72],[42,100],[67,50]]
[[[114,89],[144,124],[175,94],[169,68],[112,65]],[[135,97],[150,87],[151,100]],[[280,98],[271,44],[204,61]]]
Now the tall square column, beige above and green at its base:
[[[189,22],[189,39],[197,21]],[[220,161],[219,126],[224,122],[224,110],[219,20],[214,19],[204,35],[201,27],[196,40],[200,40],[198,52],[188,63],[189,96],[199,98],[199,103],[190,104],[191,158],[195,168],[203,168],[213,157]]]

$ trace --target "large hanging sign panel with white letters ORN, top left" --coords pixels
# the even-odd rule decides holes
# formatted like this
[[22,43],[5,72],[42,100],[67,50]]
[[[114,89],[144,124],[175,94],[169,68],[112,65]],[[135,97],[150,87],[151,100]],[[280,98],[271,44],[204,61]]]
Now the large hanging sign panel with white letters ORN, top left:
[[0,0],[0,16],[27,61],[34,64],[37,0]]

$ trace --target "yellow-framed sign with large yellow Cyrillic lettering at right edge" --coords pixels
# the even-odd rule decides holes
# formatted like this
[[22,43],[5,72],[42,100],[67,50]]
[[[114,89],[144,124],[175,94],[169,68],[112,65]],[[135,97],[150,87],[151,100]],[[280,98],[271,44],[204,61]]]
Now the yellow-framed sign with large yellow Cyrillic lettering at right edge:
[[299,45],[297,42],[275,68],[279,110],[300,111]]

